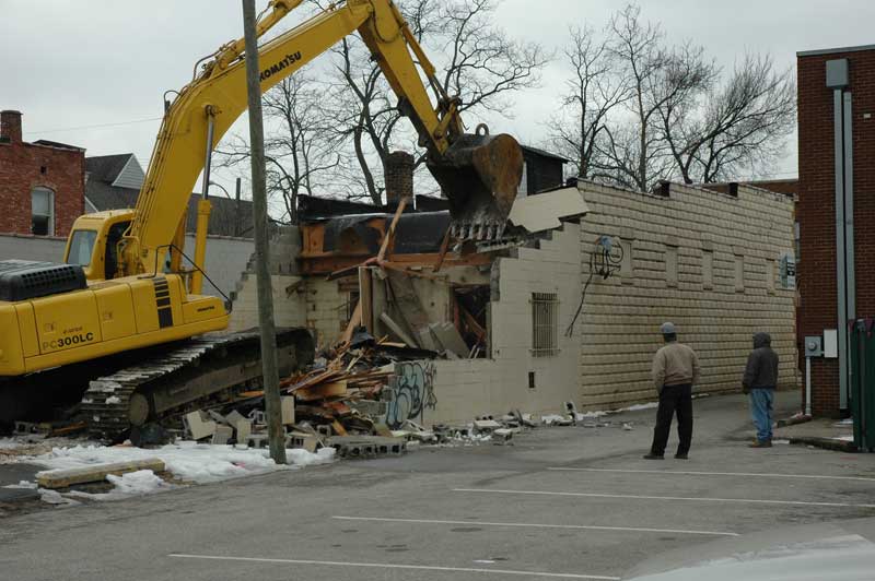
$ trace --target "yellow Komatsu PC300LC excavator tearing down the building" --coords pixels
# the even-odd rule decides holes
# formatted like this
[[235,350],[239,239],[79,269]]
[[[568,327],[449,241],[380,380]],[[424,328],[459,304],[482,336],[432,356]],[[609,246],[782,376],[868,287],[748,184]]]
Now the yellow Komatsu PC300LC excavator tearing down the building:
[[[258,19],[259,37],[302,1],[272,0]],[[332,4],[264,43],[261,92],[355,32],[428,151],[451,205],[452,234],[501,236],[522,177],[520,145],[506,134],[464,132],[459,100],[445,93],[392,0]],[[92,436],[117,439],[258,384],[257,334],[209,334],[226,328],[229,312],[201,294],[210,154],[246,109],[243,51],[243,38],[223,45],[165,103],[135,210],[79,217],[62,264],[0,261],[0,424],[81,399]],[[186,266],[186,210],[201,171],[205,194]],[[281,330],[277,342],[281,371],[313,357],[306,330]]]

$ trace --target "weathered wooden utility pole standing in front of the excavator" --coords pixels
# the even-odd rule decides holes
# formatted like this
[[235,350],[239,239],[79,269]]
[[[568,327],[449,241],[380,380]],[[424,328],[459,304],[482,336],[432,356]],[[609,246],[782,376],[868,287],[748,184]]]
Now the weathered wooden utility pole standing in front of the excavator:
[[261,121],[261,86],[258,75],[258,37],[255,31],[255,0],[243,0],[243,31],[246,50],[246,92],[249,104],[249,146],[253,164],[253,225],[258,286],[258,323],[261,331],[261,371],[265,412],[270,437],[270,458],[285,464],[285,429],[282,426],[280,380],[277,370],[277,333],[273,329],[273,292],[267,233],[267,186],[265,181],[265,127]]

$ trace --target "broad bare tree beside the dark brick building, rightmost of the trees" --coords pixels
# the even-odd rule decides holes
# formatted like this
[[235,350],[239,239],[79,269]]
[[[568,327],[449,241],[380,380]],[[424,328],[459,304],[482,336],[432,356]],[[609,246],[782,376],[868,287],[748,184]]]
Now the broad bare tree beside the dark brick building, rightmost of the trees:
[[766,169],[783,153],[796,114],[790,69],[770,57],[747,55],[721,86],[695,105],[661,108],[662,132],[686,183],[737,179],[746,168]]

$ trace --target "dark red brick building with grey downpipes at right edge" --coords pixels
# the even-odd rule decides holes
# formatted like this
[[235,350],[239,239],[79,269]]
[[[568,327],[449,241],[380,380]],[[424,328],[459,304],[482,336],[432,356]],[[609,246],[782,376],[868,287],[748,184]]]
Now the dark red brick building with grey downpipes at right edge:
[[812,404],[839,416],[849,408],[847,321],[875,317],[875,46],[798,52],[797,74],[798,334],[835,333],[836,356],[812,359]]

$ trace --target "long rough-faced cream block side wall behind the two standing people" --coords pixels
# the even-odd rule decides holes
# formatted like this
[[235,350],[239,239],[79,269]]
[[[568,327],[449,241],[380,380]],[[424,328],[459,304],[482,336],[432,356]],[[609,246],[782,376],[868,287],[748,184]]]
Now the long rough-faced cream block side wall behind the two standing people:
[[[580,188],[592,210],[581,232],[582,282],[600,236],[631,253],[610,278],[596,275],[586,294],[579,372],[584,407],[655,400],[650,366],[663,321],[677,324],[679,340],[699,354],[698,392],[740,388],[756,331],[772,335],[781,387],[797,384],[795,290],[779,280],[781,254],[793,250],[789,197],[745,186],[737,198],[674,183],[667,198],[593,182]],[[713,264],[710,281],[705,261]]]

